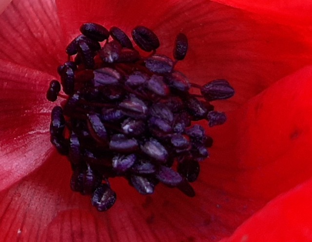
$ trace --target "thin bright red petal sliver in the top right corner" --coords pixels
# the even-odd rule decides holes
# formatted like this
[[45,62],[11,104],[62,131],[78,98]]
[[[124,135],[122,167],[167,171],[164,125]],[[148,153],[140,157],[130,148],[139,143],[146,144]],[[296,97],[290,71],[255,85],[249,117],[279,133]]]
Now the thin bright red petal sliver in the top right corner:
[[267,16],[286,24],[311,25],[312,2],[310,0],[215,0]]

